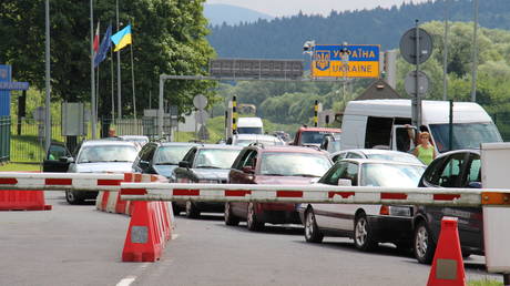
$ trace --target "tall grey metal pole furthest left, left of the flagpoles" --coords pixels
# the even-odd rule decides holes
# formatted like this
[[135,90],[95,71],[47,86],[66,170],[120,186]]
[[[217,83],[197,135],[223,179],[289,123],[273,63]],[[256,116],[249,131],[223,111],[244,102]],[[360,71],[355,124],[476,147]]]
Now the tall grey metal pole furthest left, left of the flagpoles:
[[51,144],[51,86],[50,86],[50,0],[45,2],[45,112],[44,112],[44,150],[48,152]]

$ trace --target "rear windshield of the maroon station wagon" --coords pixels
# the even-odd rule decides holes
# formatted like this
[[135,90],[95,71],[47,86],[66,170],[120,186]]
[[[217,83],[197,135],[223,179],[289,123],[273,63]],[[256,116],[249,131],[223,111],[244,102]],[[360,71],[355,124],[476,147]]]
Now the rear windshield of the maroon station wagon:
[[264,153],[261,163],[262,175],[319,177],[332,166],[322,154]]

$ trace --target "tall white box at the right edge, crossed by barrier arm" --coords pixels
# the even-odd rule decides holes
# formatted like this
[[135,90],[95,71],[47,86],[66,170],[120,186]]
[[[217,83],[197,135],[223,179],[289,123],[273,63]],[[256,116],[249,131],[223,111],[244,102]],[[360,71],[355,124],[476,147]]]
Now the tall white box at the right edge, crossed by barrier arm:
[[[483,188],[510,188],[510,143],[481,144]],[[483,239],[487,270],[510,274],[510,207],[483,206]]]

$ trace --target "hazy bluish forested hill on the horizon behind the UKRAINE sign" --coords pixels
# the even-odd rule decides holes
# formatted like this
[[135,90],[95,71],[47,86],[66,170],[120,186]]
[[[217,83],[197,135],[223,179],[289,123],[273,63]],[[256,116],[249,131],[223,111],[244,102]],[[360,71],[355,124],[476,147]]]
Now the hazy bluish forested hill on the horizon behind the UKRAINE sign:
[[[400,37],[415,25],[416,19],[420,23],[442,21],[447,7],[451,21],[472,21],[471,0],[438,0],[389,9],[333,11],[328,17],[299,13],[254,23],[214,25],[207,39],[223,58],[303,59],[303,43],[307,40],[381,44],[382,50],[388,50],[398,48]],[[508,0],[480,1],[479,11],[481,27],[510,30]]]

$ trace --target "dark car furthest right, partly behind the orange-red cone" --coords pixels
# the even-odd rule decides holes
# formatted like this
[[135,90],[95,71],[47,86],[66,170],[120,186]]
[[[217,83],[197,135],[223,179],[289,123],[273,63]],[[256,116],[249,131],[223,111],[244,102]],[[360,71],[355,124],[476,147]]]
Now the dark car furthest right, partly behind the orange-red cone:
[[[419,182],[420,187],[481,187],[480,151],[458,150],[441,154],[430,163]],[[415,256],[430,263],[441,228],[441,218],[458,218],[462,256],[483,254],[481,207],[416,206],[414,217]]]

